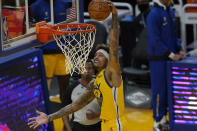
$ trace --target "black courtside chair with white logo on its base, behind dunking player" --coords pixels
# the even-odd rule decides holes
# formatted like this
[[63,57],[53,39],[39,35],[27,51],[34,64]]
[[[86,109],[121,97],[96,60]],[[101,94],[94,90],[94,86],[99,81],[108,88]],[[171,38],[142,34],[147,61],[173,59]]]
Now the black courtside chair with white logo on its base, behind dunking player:
[[144,28],[132,49],[131,66],[123,68],[125,105],[129,107],[152,108],[147,42],[148,32]]

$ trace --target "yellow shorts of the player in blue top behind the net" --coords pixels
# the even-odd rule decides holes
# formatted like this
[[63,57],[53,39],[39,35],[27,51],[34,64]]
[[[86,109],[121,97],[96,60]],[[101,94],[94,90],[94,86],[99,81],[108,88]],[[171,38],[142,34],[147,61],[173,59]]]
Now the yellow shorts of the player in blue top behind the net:
[[64,54],[44,54],[44,65],[47,78],[67,75]]

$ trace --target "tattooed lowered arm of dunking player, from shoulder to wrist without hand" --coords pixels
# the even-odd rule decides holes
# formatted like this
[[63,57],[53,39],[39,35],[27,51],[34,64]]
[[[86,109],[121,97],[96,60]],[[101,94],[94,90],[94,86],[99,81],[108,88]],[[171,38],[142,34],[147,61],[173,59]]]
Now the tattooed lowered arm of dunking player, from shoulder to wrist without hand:
[[75,102],[61,108],[53,114],[48,115],[48,119],[49,121],[53,121],[54,119],[60,118],[64,115],[68,116],[89,104],[94,98],[93,89],[89,87]]

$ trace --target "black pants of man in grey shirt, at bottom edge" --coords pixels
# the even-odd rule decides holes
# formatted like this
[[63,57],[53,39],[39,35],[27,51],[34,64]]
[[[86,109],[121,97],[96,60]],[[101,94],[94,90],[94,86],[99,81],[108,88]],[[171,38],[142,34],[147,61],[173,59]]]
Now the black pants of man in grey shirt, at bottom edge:
[[72,131],[101,131],[101,122],[94,125],[81,125],[77,122],[73,122],[72,125]]

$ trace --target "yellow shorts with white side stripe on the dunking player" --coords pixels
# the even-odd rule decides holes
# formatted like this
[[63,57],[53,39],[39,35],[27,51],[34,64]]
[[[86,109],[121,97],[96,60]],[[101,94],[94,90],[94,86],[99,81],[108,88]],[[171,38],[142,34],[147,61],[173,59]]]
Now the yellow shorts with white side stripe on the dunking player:
[[125,116],[116,120],[102,120],[101,123],[101,131],[132,131],[127,128],[128,125]]

